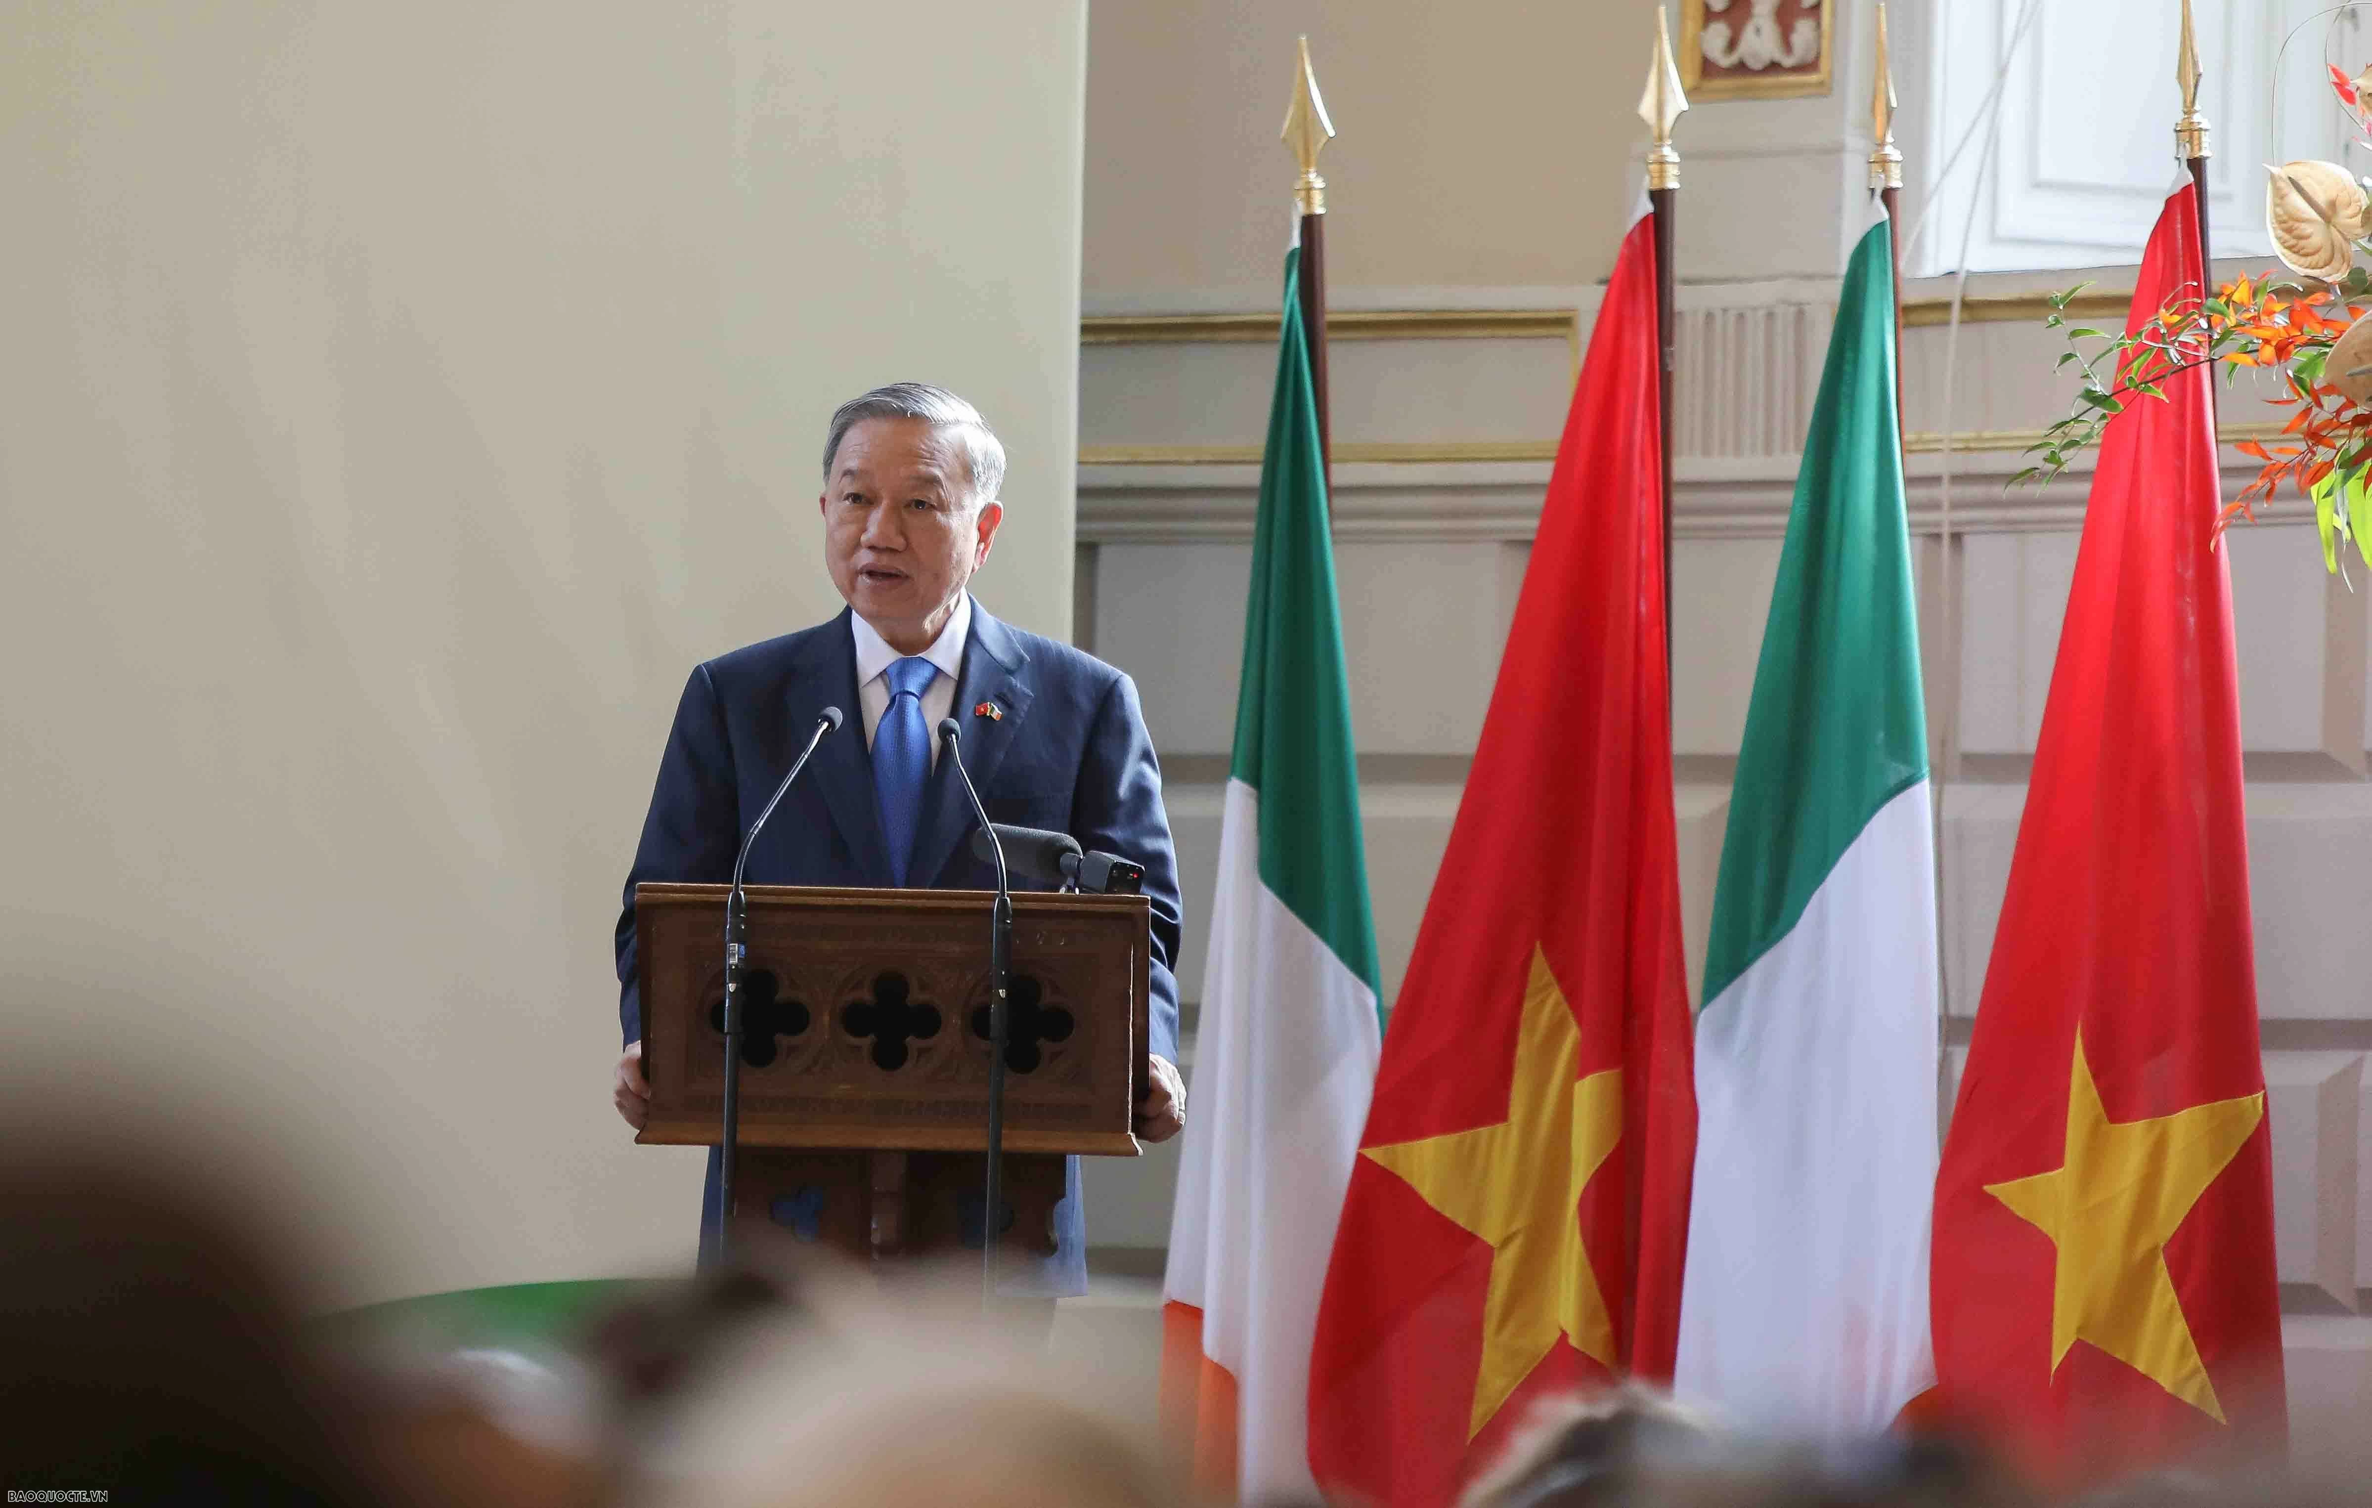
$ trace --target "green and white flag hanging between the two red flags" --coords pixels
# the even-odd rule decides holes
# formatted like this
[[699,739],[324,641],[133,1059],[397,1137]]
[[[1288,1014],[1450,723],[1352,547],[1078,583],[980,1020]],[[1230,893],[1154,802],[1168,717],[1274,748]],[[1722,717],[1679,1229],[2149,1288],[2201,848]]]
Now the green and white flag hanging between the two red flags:
[[1936,858],[1890,228],[1845,268],[1746,711],[1696,1020],[1675,1387],[1886,1427],[1933,1382]]

